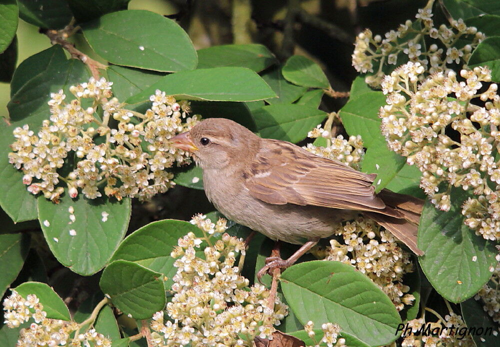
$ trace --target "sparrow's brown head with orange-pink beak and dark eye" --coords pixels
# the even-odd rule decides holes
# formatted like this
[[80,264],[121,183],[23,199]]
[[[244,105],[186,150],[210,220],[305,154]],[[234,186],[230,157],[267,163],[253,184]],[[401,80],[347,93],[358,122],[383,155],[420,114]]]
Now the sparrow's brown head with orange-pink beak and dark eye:
[[201,168],[220,170],[255,153],[260,138],[232,120],[207,118],[170,140],[174,147],[191,152]]

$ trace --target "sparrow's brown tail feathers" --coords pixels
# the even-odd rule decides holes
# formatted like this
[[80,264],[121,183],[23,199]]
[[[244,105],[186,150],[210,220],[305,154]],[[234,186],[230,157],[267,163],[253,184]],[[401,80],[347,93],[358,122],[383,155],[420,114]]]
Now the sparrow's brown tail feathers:
[[416,245],[416,236],[423,208],[423,200],[409,195],[394,193],[387,189],[382,190],[377,195],[388,208],[397,211],[400,218],[376,212],[364,212],[363,214],[387,229],[417,256],[422,256],[422,250]]

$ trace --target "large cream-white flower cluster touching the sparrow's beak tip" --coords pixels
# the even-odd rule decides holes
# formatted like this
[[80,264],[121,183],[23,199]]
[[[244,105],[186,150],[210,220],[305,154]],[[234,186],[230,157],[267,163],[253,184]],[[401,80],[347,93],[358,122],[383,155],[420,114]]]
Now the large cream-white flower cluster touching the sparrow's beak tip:
[[[172,173],[164,169],[189,159],[168,139],[189,130],[199,117],[184,119],[189,104],[159,90],[150,97],[152,107],[144,114],[127,110],[116,98],[108,100],[111,84],[91,77],[69,88],[75,97],[69,102],[62,90],[52,93],[50,119],[37,133],[27,125],[13,131],[16,141],[8,157],[22,169],[28,191],[57,202],[62,181],[71,198],[81,190],[86,198],[95,199],[103,190],[118,200],[147,200],[173,185]],[[65,163],[72,165],[72,171],[63,177]]]

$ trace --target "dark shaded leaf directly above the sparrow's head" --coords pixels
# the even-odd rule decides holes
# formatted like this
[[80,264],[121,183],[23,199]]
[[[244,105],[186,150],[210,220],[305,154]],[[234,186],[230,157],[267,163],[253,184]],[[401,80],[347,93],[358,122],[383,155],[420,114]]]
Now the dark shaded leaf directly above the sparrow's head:
[[191,101],[191,110],[193,114],[200,114],[203,118],[227,118],[251,131],[257,131],[255,121],[244,102]]

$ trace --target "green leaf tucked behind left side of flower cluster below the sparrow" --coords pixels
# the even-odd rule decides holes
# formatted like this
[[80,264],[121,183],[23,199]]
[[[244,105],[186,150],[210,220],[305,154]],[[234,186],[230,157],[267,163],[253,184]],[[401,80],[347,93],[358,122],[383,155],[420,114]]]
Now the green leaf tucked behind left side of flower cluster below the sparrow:
[[202,236],[198,227],[185,221],[166,219],[149,223],[128,235],[111,261],[126,260],[163,274],[168,278],[165,288],[170,289],[172,277],[177,272],[177,268],[173,267],[175,259],[170,257],[170,253],[177,246],[177,240],[189,232]]

